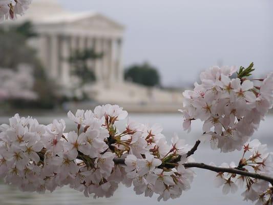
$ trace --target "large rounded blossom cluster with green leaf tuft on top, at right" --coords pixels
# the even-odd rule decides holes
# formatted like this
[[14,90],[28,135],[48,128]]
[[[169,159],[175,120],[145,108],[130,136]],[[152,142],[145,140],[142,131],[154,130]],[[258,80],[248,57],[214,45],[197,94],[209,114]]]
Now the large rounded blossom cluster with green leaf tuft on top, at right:
[[183,92],[183,128],[191,121],[203,121],[203,136],[212,149],[241,150],[273,105],[273,73],[264,79],[250,79],[253,64],[241,68],[212,67],[200,74],[201,84]]

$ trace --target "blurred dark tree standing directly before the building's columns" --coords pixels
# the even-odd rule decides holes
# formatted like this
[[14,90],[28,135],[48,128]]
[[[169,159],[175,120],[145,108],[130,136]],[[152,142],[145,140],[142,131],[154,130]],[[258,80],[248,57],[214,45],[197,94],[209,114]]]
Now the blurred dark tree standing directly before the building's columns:
[[81,79],[81,83],[90,83],[96,80],[94,68],[90,63],[97,58],[101,58],[103,53],[96,53],[93,48],[83,51],[76,50],[69,57],[69,63],[74,67],[72,73]]

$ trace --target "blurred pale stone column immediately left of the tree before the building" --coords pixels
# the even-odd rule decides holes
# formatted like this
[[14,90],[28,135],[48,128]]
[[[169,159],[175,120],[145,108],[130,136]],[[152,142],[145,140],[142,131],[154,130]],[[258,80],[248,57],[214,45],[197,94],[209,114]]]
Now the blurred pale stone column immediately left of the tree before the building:
[[69,86],[70,81],[70,64],[68,58],[70,57],[69,37],[62,36],[61,38],[61,83]]

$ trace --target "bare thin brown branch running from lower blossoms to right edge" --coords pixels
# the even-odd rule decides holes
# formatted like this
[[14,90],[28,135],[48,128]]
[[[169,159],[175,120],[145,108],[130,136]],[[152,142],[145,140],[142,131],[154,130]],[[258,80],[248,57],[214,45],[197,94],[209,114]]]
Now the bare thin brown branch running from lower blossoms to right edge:
[[253,172],[246,172],[234,168],[223,168],[223,167],[214,167],[211,165],[206,165],[204,163],[196,163],[196,162],[189,162],[189,163],[184,163],[184,167],[186,168],[200,168],[200,169],[205,169],[205,170],[211,170],[213,172],[226,172],[226,173],[232,173],[232,174],[239,174],[242,176],[249,176],[252,178],[256,179],[262,179],[265,181],[268,181],[273,185],[273,178]]

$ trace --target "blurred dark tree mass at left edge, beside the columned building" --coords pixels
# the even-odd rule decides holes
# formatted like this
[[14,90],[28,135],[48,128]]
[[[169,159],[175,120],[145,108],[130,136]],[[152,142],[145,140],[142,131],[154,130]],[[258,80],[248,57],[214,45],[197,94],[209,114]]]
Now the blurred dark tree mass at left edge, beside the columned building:
[[12,100],[9,103],[22,108],[53,108],[56,99],[53,91],[56,86],[47,78],[36,51],[27,44],[28,38],[34,36],[36,33],[29,22],[8,29],[0,28],[0,68],[16,70],[20,64],[30,65],[35,79],[33,91],[38,94],[35,101]]

